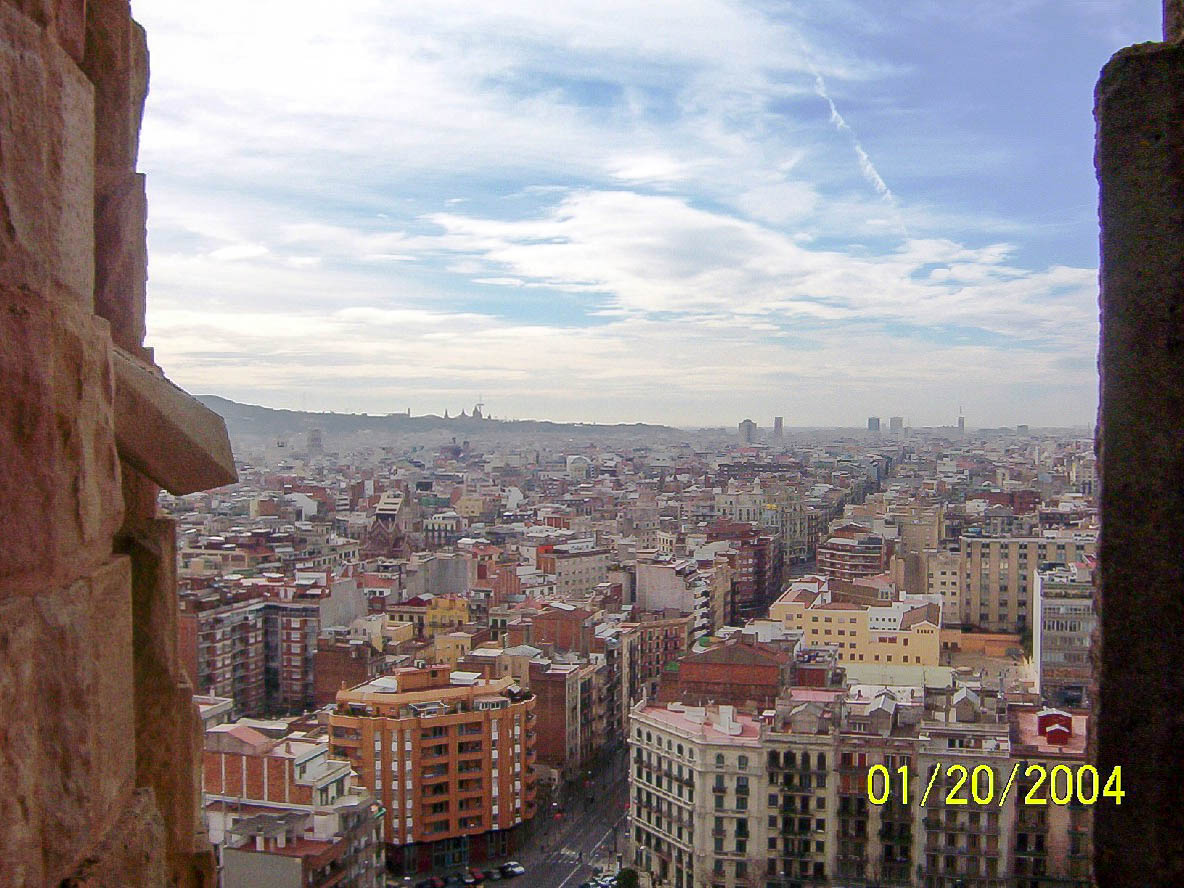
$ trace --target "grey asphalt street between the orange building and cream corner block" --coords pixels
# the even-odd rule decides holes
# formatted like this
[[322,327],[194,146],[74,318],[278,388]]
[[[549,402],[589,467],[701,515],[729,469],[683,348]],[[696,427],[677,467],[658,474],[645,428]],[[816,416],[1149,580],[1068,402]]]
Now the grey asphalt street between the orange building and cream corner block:
[[[546,825],[519,852],[530,888],[575,888],[592,877],[592,867],[616,868],[616,850],[625,845],[629,798],[628,757],[613,754],[591,779],[562,803],[564,815],[540,811]],[[617,828],[617,849],[613,828]]]

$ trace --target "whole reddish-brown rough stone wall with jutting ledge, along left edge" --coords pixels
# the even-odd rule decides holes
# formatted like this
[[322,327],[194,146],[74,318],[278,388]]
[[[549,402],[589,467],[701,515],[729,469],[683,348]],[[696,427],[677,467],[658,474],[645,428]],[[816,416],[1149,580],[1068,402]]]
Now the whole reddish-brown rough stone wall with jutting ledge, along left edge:
[[233,464],[142,346],[147,85],[126,0],[0,0],[4,886],[214,883],[155,503]]

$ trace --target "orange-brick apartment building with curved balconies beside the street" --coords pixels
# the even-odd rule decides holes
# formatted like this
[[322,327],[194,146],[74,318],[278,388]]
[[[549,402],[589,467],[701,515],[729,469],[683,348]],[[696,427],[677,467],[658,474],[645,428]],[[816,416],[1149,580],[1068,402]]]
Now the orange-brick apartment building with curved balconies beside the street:
[[384,807],[397,871],[508,854],[535,815],[535,699],[510,677],[401,669],[337,694],[333,754]]

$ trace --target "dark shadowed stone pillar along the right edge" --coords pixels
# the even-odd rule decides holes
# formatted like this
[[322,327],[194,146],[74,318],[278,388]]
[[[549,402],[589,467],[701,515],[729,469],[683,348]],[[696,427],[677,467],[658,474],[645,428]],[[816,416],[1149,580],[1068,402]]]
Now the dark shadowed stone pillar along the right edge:
[[[1166,11],[1166,7],[1165,7]],[[1166,26],[1166,21],[1165,21]],[[1098,83],[1101,224],[1099,886],[1184,884],[1184,44]]]

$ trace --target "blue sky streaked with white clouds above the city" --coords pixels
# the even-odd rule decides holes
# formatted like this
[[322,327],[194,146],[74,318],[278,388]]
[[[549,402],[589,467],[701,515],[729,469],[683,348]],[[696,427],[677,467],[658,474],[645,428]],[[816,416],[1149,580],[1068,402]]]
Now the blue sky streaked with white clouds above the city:
[[1090,425],[1153,0],[134,2],[147,345],[296,410]]

